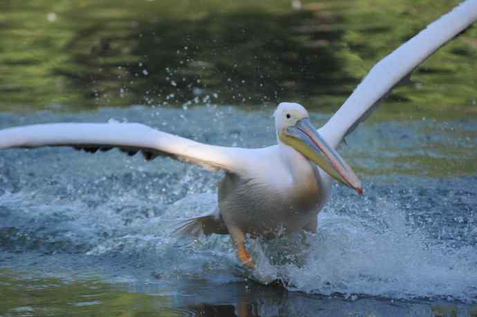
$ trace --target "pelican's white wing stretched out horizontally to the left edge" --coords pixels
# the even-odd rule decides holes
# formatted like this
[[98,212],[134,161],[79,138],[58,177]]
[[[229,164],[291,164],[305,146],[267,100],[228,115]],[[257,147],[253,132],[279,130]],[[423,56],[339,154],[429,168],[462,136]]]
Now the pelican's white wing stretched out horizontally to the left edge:
[[203,144],[136,123],[35,124],[0,130],[0,149],[40,146],[72,146],[90,153],[120,148],[129,155],[140,151],[147,160],[168,155],[232,173],[243,170],[247,157],[244,148]]

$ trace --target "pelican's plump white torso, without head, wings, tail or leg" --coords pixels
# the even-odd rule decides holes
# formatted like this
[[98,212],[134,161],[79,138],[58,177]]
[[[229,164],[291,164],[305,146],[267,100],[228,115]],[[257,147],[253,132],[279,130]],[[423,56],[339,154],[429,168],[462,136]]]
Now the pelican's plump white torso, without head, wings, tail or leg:
[[[331,180],[315,164],[284,144],[256,150],[259,173],[227,173],[218,186],[218,209],[227,223],[252,236],[315,232],[317,213],[330,193]],[[252,174],[252,173],[251,173]]]

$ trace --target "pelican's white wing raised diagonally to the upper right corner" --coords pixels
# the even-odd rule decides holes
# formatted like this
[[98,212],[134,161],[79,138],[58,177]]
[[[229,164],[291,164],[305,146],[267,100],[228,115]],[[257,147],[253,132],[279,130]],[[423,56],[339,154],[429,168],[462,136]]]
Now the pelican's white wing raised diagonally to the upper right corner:
[[408,78],[429,55],[476,19],[477,0],[467,0],[384,57],[320,129],[321,135],[332,146],[337,146],[360,122],[371,115],[380,100],[397,84]]

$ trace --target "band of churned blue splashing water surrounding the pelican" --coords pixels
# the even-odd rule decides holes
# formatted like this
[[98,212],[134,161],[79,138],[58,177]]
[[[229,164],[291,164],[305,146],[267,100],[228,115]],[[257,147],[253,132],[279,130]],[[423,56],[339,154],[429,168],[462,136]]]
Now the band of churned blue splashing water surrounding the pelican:
[[[53,113],[34,117],[4,114],[0,126],[36,123],[38,117],[72,121],[69,115]],[[274,133],[267,128],[268,113],[231,108],[189,109],[187,113],[140,107],[104,109],[76,115],[73,121],[106,122],[110,117],[127,117],[130,122],[214,144],[232,140],[238,146],[263,146],[274,142]],[[180,130],[184,119],[194,124]],[[211,120],[216,132],[210,129]],[[255,274],[240,265],[228,236],[192,239],[172,233],[179,220],[214,209],[215,184],[221,175],[170,159],[145,163],[141,157],[126,157],[118,151],[101,155],[57,148],[2,151],[0,247],[48,254],[59,266],[60,254],[82,256],[88,264],[92,259],[107,262],[114,258],[124,267],[123,279],[138,271],[160,280],[219,276],[227,282],[272,276],[288,289],[308,294],[475,302],[477,178],[383,174],[390,163],[377,154],[392,158],[402,152],[419,153],[422,138],[429,134],[446,145],[446,151],[437,147],[433,151],[455,160],[455,151],[449,148],[471,144],[473,140],[467,137],[474,135],[475,128],[462,122],[451,124],[456,136],[451,142],[435,122],[403,124],[405,128],[400,123],[377,129],[361,127],[359,133],[364,137],[350,144],[355,146],[355,164],[362,166],[365,175],[366,195],[359,197],[335,187],[333,199],[319,215],[317,234],[247,240],[257,262]],[[400,138],[400,131],[406,130],[413,133]],[[402,142],[383,149],[387,135]],[[359,152],[359,148],[364,150]],[[427,166],[426,161],[413,164],[421,164],[420,169]]]

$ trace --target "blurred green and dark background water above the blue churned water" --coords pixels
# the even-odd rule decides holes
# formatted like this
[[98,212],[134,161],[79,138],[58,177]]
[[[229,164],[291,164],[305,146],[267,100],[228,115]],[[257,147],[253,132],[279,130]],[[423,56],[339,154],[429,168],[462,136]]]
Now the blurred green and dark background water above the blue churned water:
[[[0,110],[289,99],[331,111],[458,2],[2,1]],[[391,112],[476,114],[476,35],[429,59]]]

